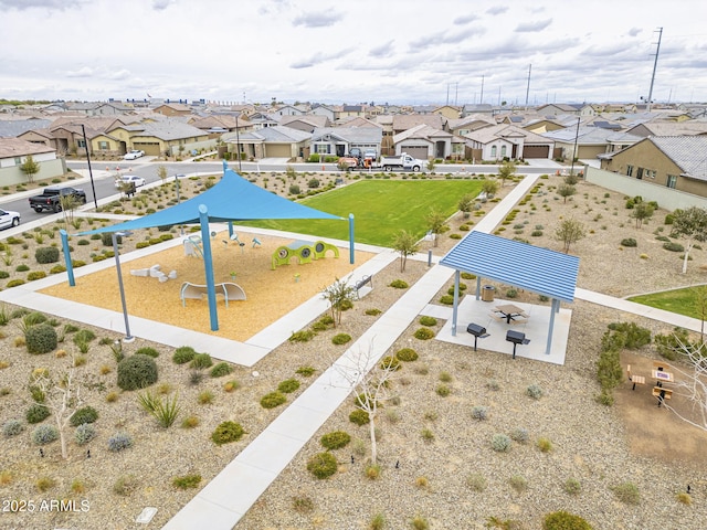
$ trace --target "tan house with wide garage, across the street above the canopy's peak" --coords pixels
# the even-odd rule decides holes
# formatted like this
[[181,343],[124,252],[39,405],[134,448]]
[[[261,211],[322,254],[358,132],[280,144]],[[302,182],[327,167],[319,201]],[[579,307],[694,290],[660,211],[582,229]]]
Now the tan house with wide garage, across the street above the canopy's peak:
[[289,160],[305,159],[308,156],[309,132],[283,127],[265,127],[236,135],[228,132],[221,139],[228,145],[231,158],[239,155],[245,159],[284,158]]

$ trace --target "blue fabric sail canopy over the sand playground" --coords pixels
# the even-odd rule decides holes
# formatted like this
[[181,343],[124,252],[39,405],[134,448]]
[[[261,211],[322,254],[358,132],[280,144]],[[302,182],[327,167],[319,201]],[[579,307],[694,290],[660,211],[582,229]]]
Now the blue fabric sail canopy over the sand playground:
[[125,223],[82,232],[95,234],[127,230],[199,223],[199,205],[207,206],[209,222],[252,221],[258,219],[330,219],[342,218],[298,204],[255,186],[232,169],[203,193],[173,206]]

